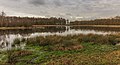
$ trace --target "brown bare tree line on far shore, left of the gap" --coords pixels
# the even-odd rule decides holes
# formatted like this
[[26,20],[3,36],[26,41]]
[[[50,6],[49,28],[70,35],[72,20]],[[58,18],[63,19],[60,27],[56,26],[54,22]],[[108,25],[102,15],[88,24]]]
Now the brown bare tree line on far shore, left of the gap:
[[0,27],[30,27],[32,25],[65,25],[63,18],[0,16]]

